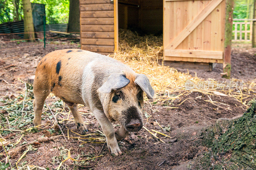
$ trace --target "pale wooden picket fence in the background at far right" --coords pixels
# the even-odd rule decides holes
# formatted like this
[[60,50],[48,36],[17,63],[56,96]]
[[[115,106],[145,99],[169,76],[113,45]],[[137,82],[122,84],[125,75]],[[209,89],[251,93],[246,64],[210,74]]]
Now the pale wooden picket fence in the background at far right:
[[252,21],[256,19],[234,19],[232,40],[235,42],[252,41]]

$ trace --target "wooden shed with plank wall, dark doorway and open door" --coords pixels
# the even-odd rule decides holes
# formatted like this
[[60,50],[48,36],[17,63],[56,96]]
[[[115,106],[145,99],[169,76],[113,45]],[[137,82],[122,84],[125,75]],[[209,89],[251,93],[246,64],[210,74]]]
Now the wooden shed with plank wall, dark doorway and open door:
[[163,33],[164,60],[223,63],[225,0],[80,0],[81,48],[118,50],[118,28]]

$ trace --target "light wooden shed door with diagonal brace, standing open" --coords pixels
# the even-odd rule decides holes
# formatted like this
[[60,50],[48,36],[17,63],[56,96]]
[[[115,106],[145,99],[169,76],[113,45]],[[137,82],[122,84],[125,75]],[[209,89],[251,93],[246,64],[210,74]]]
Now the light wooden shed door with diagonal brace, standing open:
[[225,0],[164,0],[164,60],[223,63]]

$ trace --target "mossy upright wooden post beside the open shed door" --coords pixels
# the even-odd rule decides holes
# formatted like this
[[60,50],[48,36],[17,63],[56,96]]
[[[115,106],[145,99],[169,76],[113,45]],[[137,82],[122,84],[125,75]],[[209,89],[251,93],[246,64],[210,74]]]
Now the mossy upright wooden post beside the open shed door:
[[226,18],[225,18],[225,41],[222,77],[230,79],[231,74],[231,40],[233,26],[234,0],[226,0]]

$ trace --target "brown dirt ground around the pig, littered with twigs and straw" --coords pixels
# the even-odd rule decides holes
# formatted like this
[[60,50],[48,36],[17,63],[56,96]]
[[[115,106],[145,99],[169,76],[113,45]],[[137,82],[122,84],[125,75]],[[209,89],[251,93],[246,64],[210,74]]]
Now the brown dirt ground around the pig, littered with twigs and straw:
[[[25,86],[20,80],[27,81],[28,77],[35,74],[36,66],[45,54],[65,48],[80,47],[75,43],[47,44],[45,49],[43,48],[42,42],[1,44],[0,98],[6,96],[13,98],[12,95],[18,96],[20,91],[24,92]],[[231,76],[243,80],[244,82],[254,80],[256,78],[255,54],[255,48],[232,48]],[[220,78],[221,71],[221,64],[217,65],[212,72],[189,70],[192,75],[196,72],[198,77],[202,77],[205,80],[208,78],[223,80]],[[186,94],[187,95],[181,96],[179,100],[174,100],[173,103],[163,103],[162,105],[152,103],[145,104],[144,106],[145,115],[152,115],[152,117],[149,118],[145,117],[144,126],[149,130],[153,129],[170,136],[171,138],[157,135],[165,143],[157,140],[148,131],[142,129],[139,132],[130,133],[128,137],[118,141],[119,147],[124,154],[121,156],[113,156],[108,151],[104,142],[84,143],[81,139],[78,140],[77,138],[81,137],[79,135],[82,134],[75,129],[74,123],[66,121],[66,124],[65,122],[61,123],[62,130],[65,136],[72,136],[73,138],[69,138],[68,142],[66,142],[63,137],[60,137],[53,141],[38,143],[36,146],[37,150],[29,151],[27,155],[21,159],[20,163],[23,162],[23,165],[29,164],[43,168],[57,169],[60,162],[64,160],[63,155],[67,153],[65,149],[70,149],[71,158],[83,160],[100,154],[103,154],[103,156],[98,157],[96,160],[91,159],[86,161],[83,165],[69,159],[63,162],[63,166],[61,166],[62,169],[186,169],[187,166],[184,166],[186,162],[197,157],[204,151],[204,147],[195,142],[195,138],[198,138],[200,129],[215,123],[219,118],[239,116],[246,110],[246,107],[240,101],[232,97],[210,96],[212,101],[227,104],[225,107],[218,107],[212,103],[205,102],[205,100],[209,100],[209,97],[200,92],[188,92]],[[248,101],[255,97],[255,94],[251,94]],[[57,100],[58,98],[50,96],[46,100],[46,103],[51,105],[52,102]],[[181,103],[182,101],[184,102]],[[4,103],[0,102],[0,105],[4,105]],[[166,106],[177,108],[170,109]],[[83,118],[88,122],[87,128],[91,129],[89,133],[97,132],[95,130],[102,131],[97,120],[86,107],[79,108],[79,111],[84,113]],[[68,109],[64,109],[63,112],[68,113]],[[45,129],[50,128],[54,123],[54,119],[50,119],[48,117],[49,115],[49,110],[44,108],[44,120],[42,123],[50,124],[49,126],[44,126]],[[57,114],[56,117],[59,120],[66,119],[67,114]],[[69,119],[72,118],[73,117],[70,115]],[[164,129],[161,129],[156,121],[161,127],[164,127]],[[28,122],[24,127],[32,127],[32,122]],[[118,128],[118,126],[115,125],[115,128]],[[55,133],[57,134],[57,132]],[[46,130],[38,132],[28,131],[21,139],[20,143],[24,141],[28,143],[32,142],[42,135],[50,137],[56,134],[49,134],[49,131]],[[21,137],[21,133],[16,132],[14,135],[12,133],[3,134],[3,137],[15,143],[16,140]],[[26,149],[27,147],[23,147],[22,150],[11,157],[13,165],[15,165],[15,162]],[[1,152],[4,154],[3,149],[1,150],[0,148],[0,153]],[[78,158],[78,155],[81,157]],[[5,157],[0,157],[0,160],[4,162]]]

